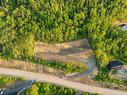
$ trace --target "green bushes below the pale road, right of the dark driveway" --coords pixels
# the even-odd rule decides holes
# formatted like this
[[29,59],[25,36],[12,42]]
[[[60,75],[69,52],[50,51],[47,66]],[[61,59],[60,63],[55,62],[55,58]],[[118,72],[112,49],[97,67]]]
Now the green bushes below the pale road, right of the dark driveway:
[[[36,93],[36,94],[35,94]],[[50,83],[35,83],[21,95],[74,95],[75,90]]]

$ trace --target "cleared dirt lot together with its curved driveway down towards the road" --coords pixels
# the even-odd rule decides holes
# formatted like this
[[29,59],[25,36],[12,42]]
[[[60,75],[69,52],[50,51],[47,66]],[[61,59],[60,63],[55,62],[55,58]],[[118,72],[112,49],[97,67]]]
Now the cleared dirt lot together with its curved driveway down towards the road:
[[68,76],[67,79],[69,80],[89,75],[96,67],[95,55],[87,39],[63,44],[36,43],[34,56],[62,62],[83,62],[88,65],[88,70],[86,72]]

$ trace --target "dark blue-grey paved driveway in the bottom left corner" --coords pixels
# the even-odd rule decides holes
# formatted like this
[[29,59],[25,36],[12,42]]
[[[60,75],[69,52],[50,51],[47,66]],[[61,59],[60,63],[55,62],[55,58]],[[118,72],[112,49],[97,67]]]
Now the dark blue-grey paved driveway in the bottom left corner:
[[17,93],[25,90],[26,88],[32,86],[34,81],[29,80],[26,81],[25,83],[19,85],[18,87],[12,88],[12,89],[5,89],[5,90],[1,90],[0,92],[2,92],[0,95],[17,95]]

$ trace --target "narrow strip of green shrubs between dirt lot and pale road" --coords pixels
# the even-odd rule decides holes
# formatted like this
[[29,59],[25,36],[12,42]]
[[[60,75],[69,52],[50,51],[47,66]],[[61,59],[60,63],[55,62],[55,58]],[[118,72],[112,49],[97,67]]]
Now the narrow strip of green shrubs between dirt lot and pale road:
[[58,70],[62,70],[66,73],[74,73],[74,72],[83,72],[86,70],[86,65],[84,63],[75,63],[75,62],[58,62],[58,61],[48,61],[41,58],[36,58],[33,56],[21,56],[18,58],[19,60],[32,62],[35,64],[42,64],[46,67],[52,67]]

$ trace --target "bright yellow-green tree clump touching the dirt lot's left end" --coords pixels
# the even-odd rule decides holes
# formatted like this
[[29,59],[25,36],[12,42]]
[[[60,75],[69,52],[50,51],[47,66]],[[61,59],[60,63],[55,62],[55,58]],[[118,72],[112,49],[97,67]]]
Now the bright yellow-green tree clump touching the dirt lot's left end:
[[12,49],[14,58],[18,56],[33,55],[34,51],[34,37],[32,34],[24,35],[21,38],[18,38],[17,41],[14,42],[15,46]]

